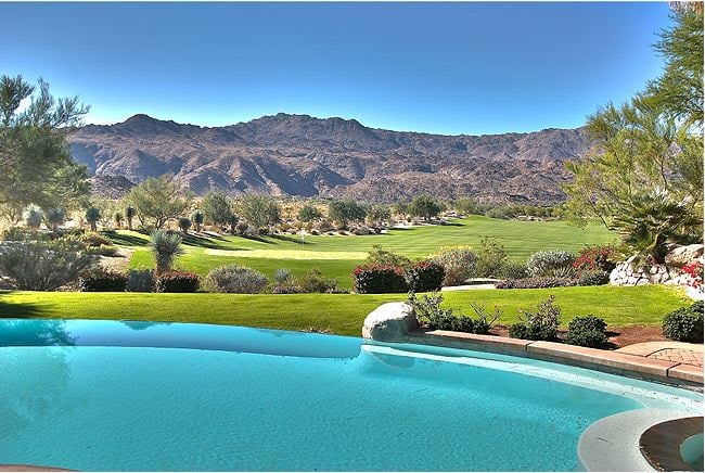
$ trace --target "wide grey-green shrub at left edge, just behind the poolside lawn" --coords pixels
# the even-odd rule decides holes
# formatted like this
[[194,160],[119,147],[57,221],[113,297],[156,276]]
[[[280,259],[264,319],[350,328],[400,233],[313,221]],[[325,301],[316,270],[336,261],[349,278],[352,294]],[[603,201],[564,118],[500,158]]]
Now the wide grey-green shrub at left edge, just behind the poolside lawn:
[[88,269],[94,257],[74,239],[3,242],[0,278],[13,289],[52,291],[68,284]]

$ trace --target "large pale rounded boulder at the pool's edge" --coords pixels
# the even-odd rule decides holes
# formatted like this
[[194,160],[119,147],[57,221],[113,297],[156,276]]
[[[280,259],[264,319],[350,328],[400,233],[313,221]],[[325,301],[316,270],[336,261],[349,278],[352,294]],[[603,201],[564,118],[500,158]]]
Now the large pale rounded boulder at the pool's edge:
[[372,310],[362,324],[362,337],[395,342],[419,327],[413,308],[405,303],[382,304]]

